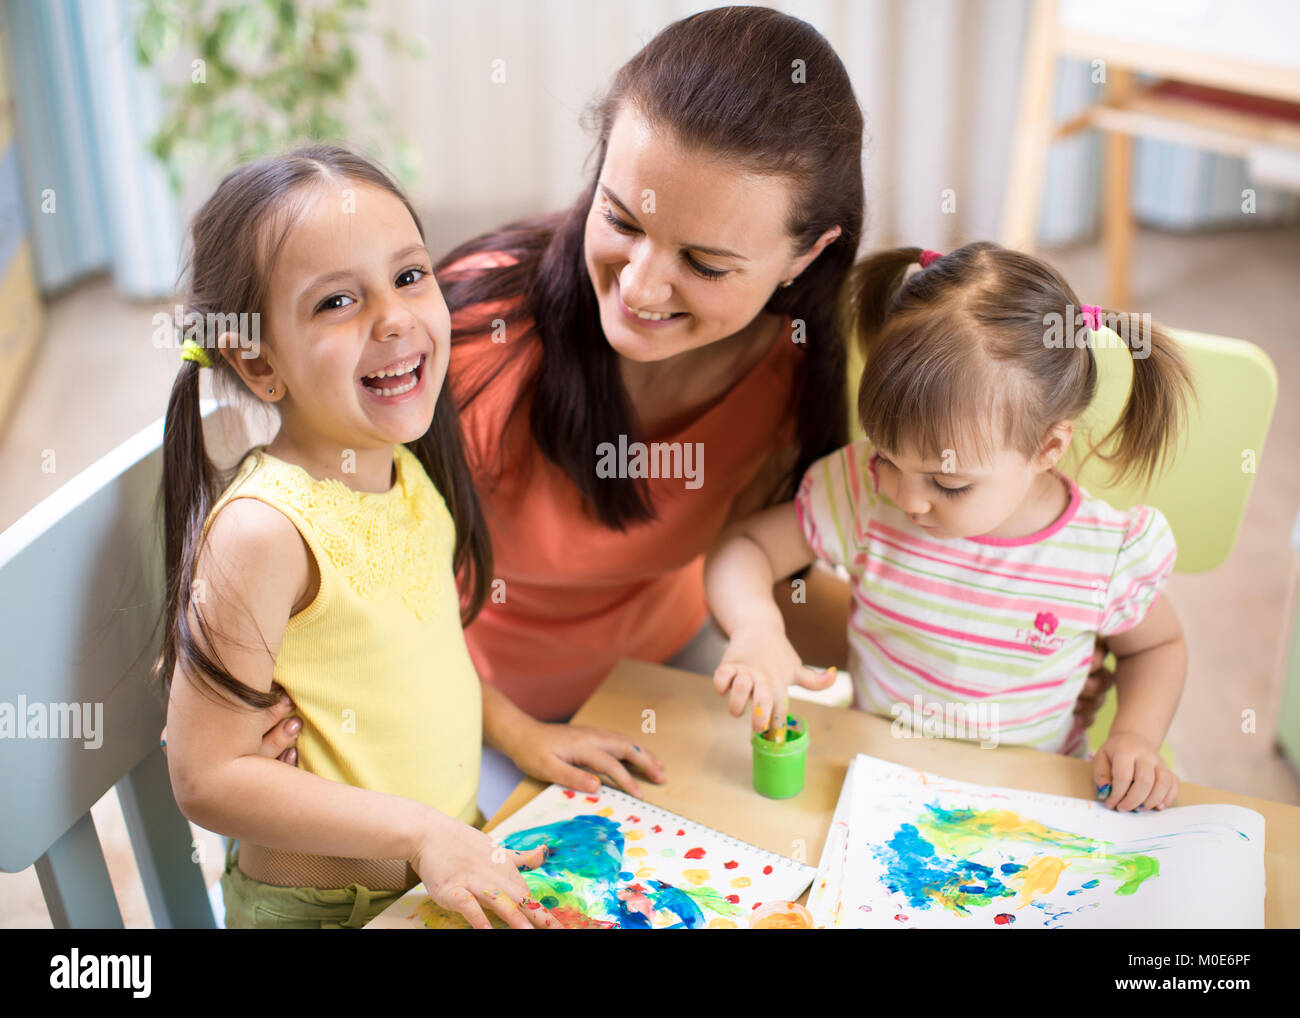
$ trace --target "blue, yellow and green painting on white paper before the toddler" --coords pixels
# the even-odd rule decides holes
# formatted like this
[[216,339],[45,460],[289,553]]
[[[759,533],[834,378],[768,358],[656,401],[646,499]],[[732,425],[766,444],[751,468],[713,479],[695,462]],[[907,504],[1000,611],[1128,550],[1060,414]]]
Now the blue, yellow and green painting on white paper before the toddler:
[[858,757],[810,894],[819,927],[1264,924],[1264,818],[1117,814]]

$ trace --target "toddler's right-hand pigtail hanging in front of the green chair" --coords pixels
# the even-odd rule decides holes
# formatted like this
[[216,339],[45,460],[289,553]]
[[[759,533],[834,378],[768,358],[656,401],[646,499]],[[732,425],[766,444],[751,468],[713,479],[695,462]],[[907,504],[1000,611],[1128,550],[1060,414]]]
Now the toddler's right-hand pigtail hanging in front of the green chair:
[[1114,471],[1144,485],[1160,473],[1187,421],[1187,403],[1196,389],[1178,342],[1162,328],[1138,315],[1101,309],[1134,359],[1134,380],[1123,412],[1098,449],[1118,437],[1114,449],[1097,455]]

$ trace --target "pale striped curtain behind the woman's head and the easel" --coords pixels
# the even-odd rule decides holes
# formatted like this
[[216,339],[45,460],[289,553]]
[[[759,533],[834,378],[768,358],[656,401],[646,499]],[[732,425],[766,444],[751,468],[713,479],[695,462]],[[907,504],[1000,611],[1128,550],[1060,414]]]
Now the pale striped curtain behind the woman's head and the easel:
[[[770,4],[822,31],[853,79],[868,133],[868,246],[948,250],[996,239],[1030,1]],[[586,179],[584,107],[659,29],[708,7],[675,0],[380,5],[381,21],[421,38],[428,51],[417,61],[385,60],[372,48],[367,73],[422,157],[415,198],[443,248],[511,217],[569,204]],[[1087,65],[1058,64],[1060,118],[1096,91]],[[1048,165],[1041,242],[1095,235],[1100,139],[1066,139],[1053,146]],[[1178,229],[1228,216],[1239,222],[1240,191],[1251,186],[1240,160],[1164,142],[1136,146],[1134,177],[1139,221]],[[1257,190],[1254,224],[1295,218],[1294,195]]]

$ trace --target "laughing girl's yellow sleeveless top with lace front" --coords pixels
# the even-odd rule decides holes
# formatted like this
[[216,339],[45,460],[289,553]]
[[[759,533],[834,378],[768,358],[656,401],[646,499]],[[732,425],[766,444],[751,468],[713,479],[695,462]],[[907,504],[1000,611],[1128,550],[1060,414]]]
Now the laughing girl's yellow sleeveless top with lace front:
[[320,590],[291,616],[274,679],[303,719],[298,766],[477,816],[482,698],[460,627],[455,527],[415,455],[389,491],[354,491],[252,449],[204,523],[255,498],[292,521]]

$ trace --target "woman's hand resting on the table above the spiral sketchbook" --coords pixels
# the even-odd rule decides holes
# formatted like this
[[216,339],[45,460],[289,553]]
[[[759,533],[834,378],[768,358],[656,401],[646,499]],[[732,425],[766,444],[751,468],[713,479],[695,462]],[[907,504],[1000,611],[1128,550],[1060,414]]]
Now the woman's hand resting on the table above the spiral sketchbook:
[[663,764],[654,753],[627,736],[604,728],[546,724],[529,718],[520,722],[510,745],[502,749],[525,774],[581,792],[601,788],[601,779],[592,771],[606,775],[637,798],[641,798],[641,785],[628,767],[636,768],[655,784],[663,784],[664,780]]

